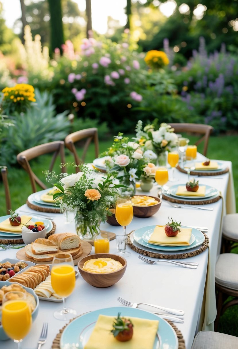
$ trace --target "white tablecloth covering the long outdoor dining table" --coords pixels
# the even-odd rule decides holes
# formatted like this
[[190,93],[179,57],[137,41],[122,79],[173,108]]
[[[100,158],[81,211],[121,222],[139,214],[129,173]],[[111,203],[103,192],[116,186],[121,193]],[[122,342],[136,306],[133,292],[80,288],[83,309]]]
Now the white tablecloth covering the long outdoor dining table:
[[[202,155],[199,156],[203,159]],[[185,259],[188,262],[197,262],[197,269],[187,269],[169,263],[149,265],[141,261],[138,258],[139,254],[127,246],[131,255],[127,257],[126,272],[119,282],[109,288],[95,288],[79,275],[73,293],[66,299],[66,305],[74,308],[77,315],[80,315],[106,307],[122,306],[117,300],[118,297],[121,297],[133,303],[147,302],[184,310],[184,323],[174,322],[174,324],[183,335],[186,349],[191,348],[194,336],[199,330],[213,330],[216,316],[214,271],[216,259],[220,253],[222,217],[227,213],[236,212],[232,163],[230,161],[222,161],[222,163],[229,168],[228,173],[214,177],[199,177],[200,184],[213,186],[220,191],[222,198],[219,201],[202,206],[213,208],[213,210],[200,210],[194,207],[173,208],[168,201],[162,200],[161,208],[155,215],[149,218],[134,217],[132,223],[126,228],[128,233],[141,227],[164,225],[168,222],[168,217],[173,217],[174,220],[179,220],[182,225],[188,227],[207,227],[209,247],[201,254]],[[169,186],[186,183],[186,174],[176,170],[175,175],[178,181],[168,182]],[[137,189],[137,194],[157,196],[157,193],[156,184],[149,193],[142,192],[140,188]],[[27,210],[32,215],[37,216],[37,212],[31,210],[26,204],[18,209],[19,212],[21,210]],[[40,212],[38,214],[40,215]],[[47,214],[44,213],[44,215]],[[48,215],[52,216],[52,214]],[[56,234],[61,232],[75,233],[74,222],[66,223],[63,214],[53,214],[53,216]],[[101,229],[114,232],[116,235],[123,233],[122,227],[114,227],[108,223],[102,223]],[[0,251],[1,259],[16,258],[16,251],[18,250]],[[91,254],[93,253],[94,247],[91,251]],[[110,253],[117,253],[115,240],[110,241]],[[75,270],[77,270],[77,266],[75,266]],[[46,321],[49,322],[49,331],[43,348],[51,348],[55,336],[66,324],[53,317],[54,310],[61,305],[62,303],[40,300],[37,319],[32,324],[30,333],[24,338],[22,349],[37,348],[42,324]],[[156,309],[144,305],[140,305],[139,308],[156,312]],[[0,342],[0,346],[2,344],[5,349],[15,348],[12,340]]]

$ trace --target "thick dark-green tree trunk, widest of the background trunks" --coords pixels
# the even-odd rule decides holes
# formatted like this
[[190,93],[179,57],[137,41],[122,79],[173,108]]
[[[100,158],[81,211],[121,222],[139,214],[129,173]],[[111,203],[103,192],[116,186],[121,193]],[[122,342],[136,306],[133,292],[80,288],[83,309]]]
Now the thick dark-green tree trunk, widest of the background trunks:
[[62,44],[64,44],[64,31],[62,22],[62,7],[61,0],[48,0],[50,10],[50,28],[51,28],[51,43],[50,55],[54,53],[56,48],[62,53]]

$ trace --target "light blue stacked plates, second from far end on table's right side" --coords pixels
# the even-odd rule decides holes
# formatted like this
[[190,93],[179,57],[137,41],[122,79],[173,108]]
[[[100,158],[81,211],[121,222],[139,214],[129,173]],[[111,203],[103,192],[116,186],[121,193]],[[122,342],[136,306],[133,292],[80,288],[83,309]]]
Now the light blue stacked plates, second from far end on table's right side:
[[220,195],[219,191],[214,188],[214,187],[210,187],[209,185],[205,185],[205,184],[201,184],[201,186],[205,186],[206,187],[206,192],[204,196],[192,196],[192,195],[177,195],[177,191],[178,191],[178,187],[179,186],[186,186],[186,184],[176,184],[176,185],[172,185],[171,187],[169,187],[169,189],[167,190],[163,190],[162,193],[165,196],[168,196],[168,198],[171,199],[179,199],[179,200],[184,200],[184,201],[207,201],[207,200],[211,200],[211,199],[215,199],[217,198],[217,196]]

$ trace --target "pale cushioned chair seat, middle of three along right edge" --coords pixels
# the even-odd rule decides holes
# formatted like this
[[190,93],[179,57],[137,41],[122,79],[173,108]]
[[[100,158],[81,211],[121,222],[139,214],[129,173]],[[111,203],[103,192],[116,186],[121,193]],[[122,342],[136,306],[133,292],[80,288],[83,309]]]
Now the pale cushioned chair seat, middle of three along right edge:
[[238,254],[222,253],[219,255],[215,268],[215,282],[219,285],[238,290]]

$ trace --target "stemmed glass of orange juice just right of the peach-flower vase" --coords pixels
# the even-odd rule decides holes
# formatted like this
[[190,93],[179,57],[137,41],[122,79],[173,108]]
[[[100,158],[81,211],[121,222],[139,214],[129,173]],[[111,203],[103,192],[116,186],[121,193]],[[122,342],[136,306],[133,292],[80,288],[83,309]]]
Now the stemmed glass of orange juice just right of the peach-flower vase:
[[124,235],[126,236],[126,227],[133,218],[133,207],[130,195],[120,195],[116,200],[116,214],[117,222],[122,225]]

